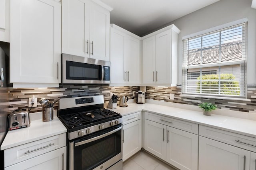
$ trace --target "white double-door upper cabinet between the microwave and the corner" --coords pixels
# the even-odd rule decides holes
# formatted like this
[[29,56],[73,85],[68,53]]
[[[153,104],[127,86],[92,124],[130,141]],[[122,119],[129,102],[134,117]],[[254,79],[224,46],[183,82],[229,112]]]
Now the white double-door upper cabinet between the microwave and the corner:
[[111,24],[111,84],[140,84],[140,37]]

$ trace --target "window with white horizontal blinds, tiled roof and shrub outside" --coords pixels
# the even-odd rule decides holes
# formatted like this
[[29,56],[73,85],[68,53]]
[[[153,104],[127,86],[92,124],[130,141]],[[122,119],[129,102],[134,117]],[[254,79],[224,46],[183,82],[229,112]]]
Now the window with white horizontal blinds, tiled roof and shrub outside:
[[247,23],[183,40],[182,94],[246,96]]

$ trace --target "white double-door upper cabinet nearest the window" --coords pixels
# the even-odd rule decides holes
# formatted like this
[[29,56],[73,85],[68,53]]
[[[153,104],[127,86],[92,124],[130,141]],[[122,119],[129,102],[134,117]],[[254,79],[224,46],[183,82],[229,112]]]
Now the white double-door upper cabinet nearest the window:
[[142,37],[143,84],[177,85],[178,33],[172,24]]

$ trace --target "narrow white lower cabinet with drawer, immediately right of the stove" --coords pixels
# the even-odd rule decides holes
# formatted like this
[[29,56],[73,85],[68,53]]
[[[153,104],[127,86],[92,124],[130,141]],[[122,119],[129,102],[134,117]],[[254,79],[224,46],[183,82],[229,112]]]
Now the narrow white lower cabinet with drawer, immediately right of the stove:
[[141,149],[141,113],[124,116],[123,119],[123,161]]

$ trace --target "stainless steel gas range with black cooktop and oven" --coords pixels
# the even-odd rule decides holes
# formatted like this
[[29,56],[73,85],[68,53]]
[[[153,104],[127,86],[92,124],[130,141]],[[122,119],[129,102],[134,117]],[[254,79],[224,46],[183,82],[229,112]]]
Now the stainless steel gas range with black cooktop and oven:
[[122,116],[103,96],[62,98],[58,118],[68,129],[69,170],[122,170]]

